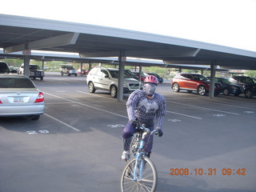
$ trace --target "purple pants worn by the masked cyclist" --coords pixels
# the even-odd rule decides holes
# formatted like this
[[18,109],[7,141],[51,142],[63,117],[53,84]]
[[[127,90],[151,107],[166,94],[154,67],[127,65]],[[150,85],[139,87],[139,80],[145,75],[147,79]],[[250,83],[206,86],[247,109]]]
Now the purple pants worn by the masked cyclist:
[[[154,122],[142,122],[141,124],[145,124],[146,128],[148,128],[149,130],[154,130]],[[130,122],[127,122],[125,128],[122,131],[122,138],[128,140],[136,132],[137,132],[137,129],[133,125],[131,125]],[[148,139],[150,139],[150,140],[146,144],[146,153],[151,153],[151,150],[153,147],[153,135],[147,136],[145,138],[145,141],[147,141]],[[130,143],[129,143],[129,146],[130,146]]]

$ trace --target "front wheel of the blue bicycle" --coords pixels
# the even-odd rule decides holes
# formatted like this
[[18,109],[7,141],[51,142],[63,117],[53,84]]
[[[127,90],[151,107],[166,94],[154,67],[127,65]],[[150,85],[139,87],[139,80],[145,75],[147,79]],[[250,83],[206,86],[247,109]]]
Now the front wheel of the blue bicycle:
[[[122,192],[129,191],[150,191],[154,192],[158,183],[158,173],[154,166],[154,163],[150,160],[150,158],[142,158],[144,161],[143,171],[142,171],[142,179],[137,178],[134,180],[134,166],[136,162],[136,158],[132,159],[126,165],[126,168],[122,172],[121,178],[121,190]],[[138,170],[140,169],[141,163],[138,163]],[[138,171],[139,172],[139,171]]]

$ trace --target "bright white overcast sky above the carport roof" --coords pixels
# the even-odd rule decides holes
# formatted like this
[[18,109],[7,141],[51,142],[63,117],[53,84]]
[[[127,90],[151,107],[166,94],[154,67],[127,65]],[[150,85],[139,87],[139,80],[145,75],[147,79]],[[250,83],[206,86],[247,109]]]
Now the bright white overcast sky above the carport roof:
[[256,51],[256,0],[8,0],[1,14],[138,30]]

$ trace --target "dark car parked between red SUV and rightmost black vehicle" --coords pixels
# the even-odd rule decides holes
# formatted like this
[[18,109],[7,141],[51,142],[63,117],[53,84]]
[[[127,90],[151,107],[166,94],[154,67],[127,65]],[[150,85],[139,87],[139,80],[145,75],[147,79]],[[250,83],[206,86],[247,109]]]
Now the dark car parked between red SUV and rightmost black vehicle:
[[[210,79],[210,77],[207,78]],[[231,83],[226,78],[215,78],[215,82],[219,82],[222,85],[222,93],[224,95],[234,94],[234,96],[238,96],[242,94],[241,86]]]

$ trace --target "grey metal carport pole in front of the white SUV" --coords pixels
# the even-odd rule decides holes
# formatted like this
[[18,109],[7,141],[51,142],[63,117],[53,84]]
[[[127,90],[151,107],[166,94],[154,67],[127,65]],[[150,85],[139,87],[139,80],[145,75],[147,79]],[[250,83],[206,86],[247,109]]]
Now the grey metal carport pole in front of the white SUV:
[[119,73],[118,73],[118,101],[123,101],[123,80],[124,80],[124,71],[125,71],[125,62],[126,57],[123,57],[124,53],[120,52],[118,57],[119,61]]

